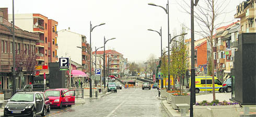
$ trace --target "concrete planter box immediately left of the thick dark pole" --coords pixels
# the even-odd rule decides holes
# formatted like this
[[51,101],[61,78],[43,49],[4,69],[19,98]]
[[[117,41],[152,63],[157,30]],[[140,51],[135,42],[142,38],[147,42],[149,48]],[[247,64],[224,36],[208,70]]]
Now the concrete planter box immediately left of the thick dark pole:
[[190,105],[190,96],[172,96],[171,95],[171,107],[173,109],[178,109],[176,104],[187,103]]

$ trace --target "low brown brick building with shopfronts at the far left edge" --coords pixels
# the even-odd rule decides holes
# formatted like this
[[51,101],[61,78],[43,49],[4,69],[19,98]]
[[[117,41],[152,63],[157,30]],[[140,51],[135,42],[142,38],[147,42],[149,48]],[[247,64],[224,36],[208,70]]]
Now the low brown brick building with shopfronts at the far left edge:
[[[8,21],[8,8],[0,8],[0,89],[11,89],[13,84],[13,34],[10,30],[12,27]],[[17,58],[17,56],[36,54],[39,39],[38,33],[25,31],[15,26],[16,88],[24,88],[32,81],[23,63],[30,61],[20,61],[22,58]]]

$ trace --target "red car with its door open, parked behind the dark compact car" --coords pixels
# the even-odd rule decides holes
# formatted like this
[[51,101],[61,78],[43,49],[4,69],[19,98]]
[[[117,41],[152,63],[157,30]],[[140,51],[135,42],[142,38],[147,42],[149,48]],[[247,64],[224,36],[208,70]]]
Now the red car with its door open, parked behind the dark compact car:
[[[65,91],[67,90],[67,91]],[[51,107],[67,107],[75,104],[75,90],[48,89],[45,91],[50,99]]]

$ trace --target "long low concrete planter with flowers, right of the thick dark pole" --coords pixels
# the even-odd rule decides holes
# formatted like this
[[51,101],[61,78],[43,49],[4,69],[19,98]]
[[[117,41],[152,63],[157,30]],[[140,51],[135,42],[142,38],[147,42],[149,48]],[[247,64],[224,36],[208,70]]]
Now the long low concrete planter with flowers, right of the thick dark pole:
[[193,106],[194,116],[239,116],[239,104],[228,106]]

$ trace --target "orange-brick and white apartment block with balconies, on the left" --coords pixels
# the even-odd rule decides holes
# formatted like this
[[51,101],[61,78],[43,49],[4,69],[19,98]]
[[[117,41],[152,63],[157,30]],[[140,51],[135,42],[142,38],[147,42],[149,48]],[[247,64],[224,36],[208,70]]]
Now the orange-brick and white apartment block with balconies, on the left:
[[[12,14],[9,14],[8,20],[12,21]],[[38,65],[48,65],[50,62],[57,62],[57,25],[58,22],[48,19],[41,14],[15,14],[15,25],[22,30],[35,32],[39,34],[37,41],[37,63]],[[39,69],[38,73],[42,76],[44,73],[49,74],[49,69]]]

